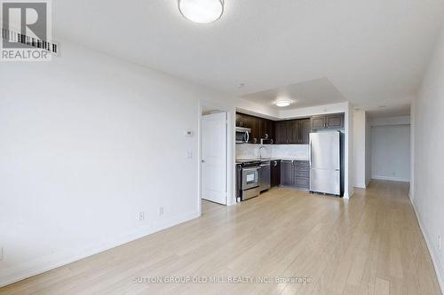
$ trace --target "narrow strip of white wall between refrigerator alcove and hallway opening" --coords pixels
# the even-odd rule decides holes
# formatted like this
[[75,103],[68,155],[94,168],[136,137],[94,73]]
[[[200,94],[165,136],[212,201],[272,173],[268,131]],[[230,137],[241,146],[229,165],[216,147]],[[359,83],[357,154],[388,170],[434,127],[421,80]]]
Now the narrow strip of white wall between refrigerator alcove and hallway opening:
[[353,113],[353,185],[366,188],[366,112]]

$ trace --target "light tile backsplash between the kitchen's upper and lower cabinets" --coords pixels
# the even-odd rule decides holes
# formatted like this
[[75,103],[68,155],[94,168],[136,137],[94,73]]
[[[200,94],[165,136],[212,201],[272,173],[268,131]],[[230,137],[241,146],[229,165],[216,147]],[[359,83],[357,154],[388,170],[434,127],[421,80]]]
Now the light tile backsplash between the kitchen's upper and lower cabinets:
[[236,144],[236,159],[257,159],[261,146],[262,158],[308,159],[308,144]]

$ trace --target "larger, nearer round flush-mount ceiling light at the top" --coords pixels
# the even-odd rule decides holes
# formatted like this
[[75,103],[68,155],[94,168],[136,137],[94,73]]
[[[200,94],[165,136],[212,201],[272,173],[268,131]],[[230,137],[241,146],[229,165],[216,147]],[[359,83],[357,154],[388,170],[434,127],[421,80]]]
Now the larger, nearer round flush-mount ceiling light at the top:
[[224,0],[178,0],[178,10],[191,21],[208,24],[224,13]]

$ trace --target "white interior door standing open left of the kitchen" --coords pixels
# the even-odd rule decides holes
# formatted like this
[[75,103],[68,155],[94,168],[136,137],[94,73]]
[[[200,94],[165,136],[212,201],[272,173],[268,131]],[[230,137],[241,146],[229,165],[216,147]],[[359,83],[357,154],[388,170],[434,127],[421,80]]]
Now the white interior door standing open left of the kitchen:
[[226,113],[202,116],[202,198],[226,205]]

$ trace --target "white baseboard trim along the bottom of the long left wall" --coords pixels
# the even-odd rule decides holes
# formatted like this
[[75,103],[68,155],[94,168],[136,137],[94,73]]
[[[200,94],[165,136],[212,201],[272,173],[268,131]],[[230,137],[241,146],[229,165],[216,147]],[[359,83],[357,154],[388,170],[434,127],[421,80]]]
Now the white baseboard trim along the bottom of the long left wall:
[[83,258],[99,252],[104,252],[119,245],[130,243],[131,241],[137,240],[141,237],[146,237],[157,231],[168,229],[172,226],[186,221],[191,221],[198,217],[200,217],[200,213],[186,213],[175,218],[171,218],[169,221],[157,223],[155,224],[155,227],[137,229],[131,234],[113,238],[105,242],[102,241],[98,244],[84,247],[83,249],[70,249],[66,252],[55,252],[51,255],[45,256],[44,258],[32,260],[17,267],[8,268],[5,271],[2,271],[2,274],[0,275],[0,287],[19,282],[31,276],[42,274],[54,268],[59,268],[76,260],[82,260]]

